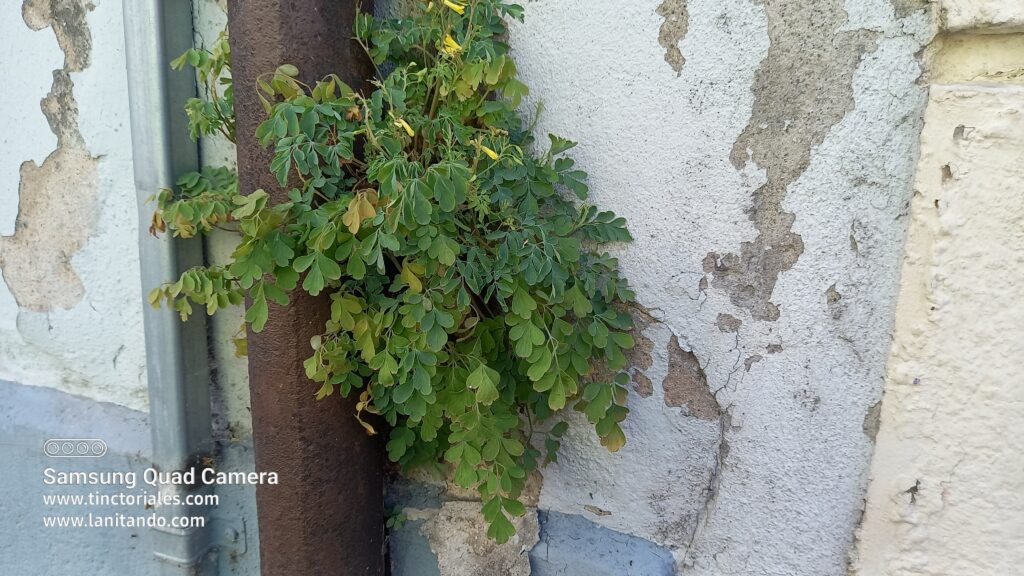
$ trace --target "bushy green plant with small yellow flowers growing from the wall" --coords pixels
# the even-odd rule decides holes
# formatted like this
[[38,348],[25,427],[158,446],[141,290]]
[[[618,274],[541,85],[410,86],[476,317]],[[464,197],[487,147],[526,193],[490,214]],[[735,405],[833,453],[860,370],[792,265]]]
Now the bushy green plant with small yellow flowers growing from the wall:
[[[599,251],[631,239],[625,220],[587,203],[587,174],[565,156],[574,142],[551,135],[531,152],[506,17],[522,8],[449,0],[402,19],[359,15],[356,38],[389,71],[367,95],[336,76],[306,85],[288,65],[261,78],[257,137],[273,147],[269,169],[289,201],[240,196],[222,173],[182,178],[159,196],[157,230],[229,221],[242,238],[229,265],[190,270],[150,296],[186,318],[193,303],[213,314],[248,295],[259,332],[290,291],[329,293],[331,320],[305,363],[317,398],[358,394],[356,417],[370,434],[366,413],[387,422],[388,455],[403,468],[451,465],[479,491],[500,542],[525,511],[527,475],[556,457],[560,410],[583,411],[611,451],[626,442],[620,371],[634,344],[634,294]],[[208,86],[224,82],[225,46],[178,63]],[[197,134],[231,134],[229,93],[189,105]]]

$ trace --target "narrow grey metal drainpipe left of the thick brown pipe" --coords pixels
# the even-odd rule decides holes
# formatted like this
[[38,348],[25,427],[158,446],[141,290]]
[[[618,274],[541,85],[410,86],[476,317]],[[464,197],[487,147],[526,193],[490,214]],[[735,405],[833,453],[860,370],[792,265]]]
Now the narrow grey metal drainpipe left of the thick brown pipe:
[[[189,138],[182,111],[185,100],[196,94],[195,78],[169,67],[173,57],[193,45],[191,4],[188,0],[124,0],[124,27],[145,294],[183,270],[203,263],[201,240],[155,238],[146,230],[153,213],[147,199],[199,164],[199,151]],[[143,303],[143,307],[153,464],[162,471],[185,470],[212,453],[206,323],[202,314],[182,323],[166,306],[154,310]],[[162,494],[196,491],[208,489],[161,487]],[[209,511],[184,504],[157,508],[167,518],[208,518]],[[207,565],[211,563],[204,559],[212,545],[212,530],[211,522],[206,528],[154,528],[160,573],[210,573]]]

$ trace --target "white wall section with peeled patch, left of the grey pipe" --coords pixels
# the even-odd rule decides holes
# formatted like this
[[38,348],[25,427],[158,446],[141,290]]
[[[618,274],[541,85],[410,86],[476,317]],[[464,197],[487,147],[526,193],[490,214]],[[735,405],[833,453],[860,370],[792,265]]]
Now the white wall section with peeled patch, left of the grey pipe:
[[143,409],[121,19],[115,0],[0,6],[0,378]]

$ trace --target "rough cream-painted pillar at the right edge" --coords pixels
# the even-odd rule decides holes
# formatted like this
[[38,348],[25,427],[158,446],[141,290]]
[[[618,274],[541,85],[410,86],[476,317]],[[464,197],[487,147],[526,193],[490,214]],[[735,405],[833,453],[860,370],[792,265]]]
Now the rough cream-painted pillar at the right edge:
[[[987,32],[1007,30],[999,14],[1018,6],[947,4]],[[1020,34],[955,34],[931,59],[944,83],[925,116],[855,574],[995,576],[1024,564],[1022,46]]]

